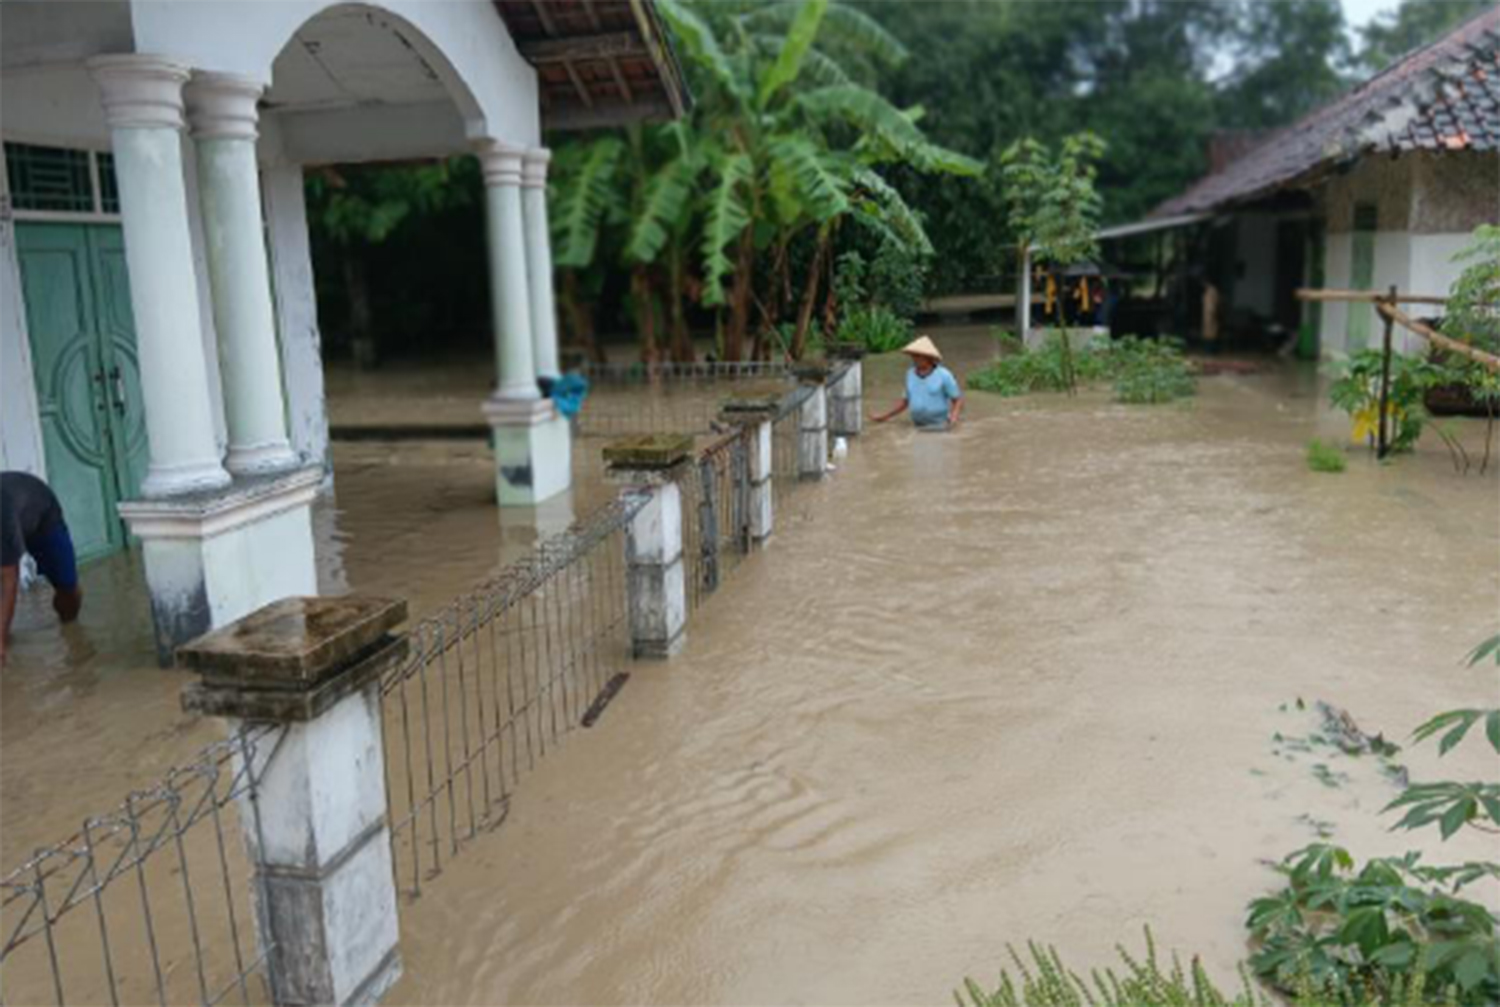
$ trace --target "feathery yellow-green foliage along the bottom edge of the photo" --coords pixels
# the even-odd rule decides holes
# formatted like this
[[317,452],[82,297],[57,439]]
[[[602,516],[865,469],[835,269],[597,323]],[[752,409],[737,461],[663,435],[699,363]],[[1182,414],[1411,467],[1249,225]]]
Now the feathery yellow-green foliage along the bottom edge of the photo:
[[1197,957],[1188,968],[1173,954],[1164,966],[1156,957],[1156,942],[1146,929],[1146,957],[1134,957],[1124,945],[1116,945],[1119,971],[1092,968],[1088,978],[1064,963],[1054,947],[1035,941],[1026,944],[1026,956],[1006,944],[1010,968],[1000,971],[999,983],[986,990],[966,978],[954,992],[958,1007],[1269,1007],[1269,999],[1251,987],[1240,974],[1240,989],[1226,996],[1203,971]]

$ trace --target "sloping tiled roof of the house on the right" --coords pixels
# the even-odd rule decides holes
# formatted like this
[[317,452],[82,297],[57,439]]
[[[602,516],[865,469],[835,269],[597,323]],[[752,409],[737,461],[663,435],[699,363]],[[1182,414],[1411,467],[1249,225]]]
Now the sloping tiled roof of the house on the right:
[[1272,134],[1148,219],[1260,198],[1376,150],[1500,150],[1500,6]]

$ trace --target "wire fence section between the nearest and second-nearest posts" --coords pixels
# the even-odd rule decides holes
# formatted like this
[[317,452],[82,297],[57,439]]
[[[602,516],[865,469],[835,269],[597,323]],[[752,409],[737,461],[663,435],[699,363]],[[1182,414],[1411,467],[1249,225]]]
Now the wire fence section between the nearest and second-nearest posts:
[[627,525],[620,497],[411,630],[381,683],[398,887],[416,897],[464,843],[500,825],[520,776],[626,678]]

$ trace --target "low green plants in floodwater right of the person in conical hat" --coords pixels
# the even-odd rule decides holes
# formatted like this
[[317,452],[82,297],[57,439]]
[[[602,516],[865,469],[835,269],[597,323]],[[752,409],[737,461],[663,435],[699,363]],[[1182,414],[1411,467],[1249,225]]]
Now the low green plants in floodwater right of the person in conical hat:
[[1131,405],[1158,404],[1194,395],[1192,365],[1174,339],[1126,336],[1065,351],[1064,338],[1052,335],[1036,350],[1004,356],[969,375],[978,392],[1014,396],[1030,392],[1066,392],[1068,368],[1078,383],[1112,381],[1114,398]]

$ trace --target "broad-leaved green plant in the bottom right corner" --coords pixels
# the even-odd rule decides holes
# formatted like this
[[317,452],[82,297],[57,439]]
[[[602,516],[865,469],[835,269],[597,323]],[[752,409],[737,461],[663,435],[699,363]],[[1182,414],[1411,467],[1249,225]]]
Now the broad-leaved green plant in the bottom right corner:
[[[1497,653],[1500,636],[1480,644],[1470,665]],[[1446,755],[1480,723],[1500,755],[1500,708],[1438,713],[1413,740],[1437,737]],[[1404,810],[1394,828],[1436,825],[1444,840],[1466,827],[1496,831],[1500,783],[1412,783],[1384,810]],[[1500,864],[1431,866],[1413,851],[1356,867],[1347,849],[1312,843],[1278,870],[1286,887],[1251,902],[1246,923],[1256,941],[1250,965],[1278,989],[1311,981],[1352,1002],[1500,999],[1500,920],[1460,897],[1470,884],[1500,881]]]

